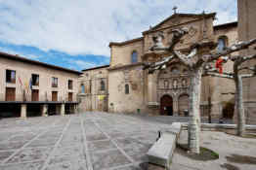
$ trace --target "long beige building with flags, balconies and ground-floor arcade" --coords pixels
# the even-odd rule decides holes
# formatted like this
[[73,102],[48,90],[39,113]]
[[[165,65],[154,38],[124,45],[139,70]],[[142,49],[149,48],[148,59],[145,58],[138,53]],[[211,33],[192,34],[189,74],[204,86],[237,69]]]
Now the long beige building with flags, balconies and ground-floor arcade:
[[0,52],[0,115],[25,118],[74,113],[80,74]]

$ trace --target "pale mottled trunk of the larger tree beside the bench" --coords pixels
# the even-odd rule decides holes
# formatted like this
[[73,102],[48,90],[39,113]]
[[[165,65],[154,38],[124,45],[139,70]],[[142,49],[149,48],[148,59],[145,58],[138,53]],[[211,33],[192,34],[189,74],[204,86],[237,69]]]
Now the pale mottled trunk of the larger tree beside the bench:
[[189,148],[192,153],[200,153],[199,133],[200,133],[200,96],[201,96],[201,76],[202,67],[192,71],[190,85],[190,116],[189,123]]

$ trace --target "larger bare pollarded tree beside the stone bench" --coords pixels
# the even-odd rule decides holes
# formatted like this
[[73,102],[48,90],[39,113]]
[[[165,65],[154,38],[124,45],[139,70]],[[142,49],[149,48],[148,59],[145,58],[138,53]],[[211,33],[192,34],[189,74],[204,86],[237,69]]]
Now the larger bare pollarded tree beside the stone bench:
[[[154,46],[150,48],[150,51],[167,51],[171,53],[170,56],[163,58],[161,61],[153,63],[145,63],[144,69],[149,69],[149,74],[155,70],[165,69],[167,64],[174,58],[179,58],[183,64],[185,64],[191,73],[191,85],[190,85],[190,115],[192,119],[189,122],[189,148],[192,153],[199,153],[199,132],[200,132],[200,95],[201,95],[201,78],[204,66],[214,60],[217,60],[220,56],[228,55],[234,51],[240,51],[246,49],[252,44],[256,43],[256,39],[248,42],[239,42],[230,48],[226,48],[225,51],[219,51],[217,53],[202,54],[202,50],[210,49],[213,45],[211,42],[200,42],[193,44],[191,52],[186,55],[180,51],[175,51],[175,46],[181,41],[181,38],[188,34],[188,28],[180,28],[172,31],[173,37],[169,47],[164,47],[161,40],[164,38],[162,34],[158,34],[153,37]],[[157,38],[158,37],[158,38]],[[214,46],[216,47],[216,46]]]

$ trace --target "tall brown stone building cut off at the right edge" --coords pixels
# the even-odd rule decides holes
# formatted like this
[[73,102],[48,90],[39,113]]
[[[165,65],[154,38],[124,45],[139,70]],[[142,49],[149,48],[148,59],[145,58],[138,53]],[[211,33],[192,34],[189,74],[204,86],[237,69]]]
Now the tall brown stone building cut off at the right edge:
[[[256,38],[256,1],[238,0],[238,37],[240,41]],[[255,46],[254,46],[255,47]],[[255,54],[254,47],[241,51],[241,55]],[[245,63],[256,65],[256,60]],[[243,80],[243,101],[246,123],[256,123],[256,78]]]

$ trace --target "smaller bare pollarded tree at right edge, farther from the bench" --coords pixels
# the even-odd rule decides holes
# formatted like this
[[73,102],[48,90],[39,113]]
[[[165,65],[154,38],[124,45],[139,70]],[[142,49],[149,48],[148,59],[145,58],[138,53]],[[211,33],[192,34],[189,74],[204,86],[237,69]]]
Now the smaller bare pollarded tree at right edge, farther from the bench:
[[[256,76],[256,66],[254,67],[241,67],[241,64],[245,61],[256,58],[256,54],[249,56],[232,56],[229,59],[234,61],[234,72],[233,73],[222,73],[220,74],[215,68],[206,68],[206,76],[215,76],[220,78],[232,79],[235,82],[235,107],[237,112],[237,135],[243,136],[245,133],[245,116],[242,99],[242,79],[251,78]],[[249,70],[251,74],[240,74],[242,70]]]

